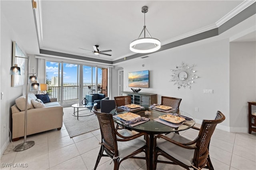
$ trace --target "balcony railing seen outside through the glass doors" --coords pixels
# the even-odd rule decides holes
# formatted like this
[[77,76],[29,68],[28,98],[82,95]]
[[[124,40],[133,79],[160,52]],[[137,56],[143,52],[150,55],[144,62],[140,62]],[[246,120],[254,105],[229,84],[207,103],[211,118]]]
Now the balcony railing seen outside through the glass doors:
[[[102,93],[102,87],[98,86],[83,86],[83,96],[86,94],[92,93]],[[79,96],[79,86],[63,86],[63,100],[73,100],[78,99]],[[60,101],[60,86],[48,86],[48,94],[51,98],[57,98],[57,101]]]

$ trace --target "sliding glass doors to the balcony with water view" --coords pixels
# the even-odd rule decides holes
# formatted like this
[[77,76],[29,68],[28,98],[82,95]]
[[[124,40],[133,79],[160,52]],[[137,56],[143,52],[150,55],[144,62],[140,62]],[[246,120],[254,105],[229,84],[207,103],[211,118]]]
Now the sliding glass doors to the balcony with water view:
[[108,96],[108,68],[46,61],[46,82],[47,93],[62,106],[80,103],[86,94]]

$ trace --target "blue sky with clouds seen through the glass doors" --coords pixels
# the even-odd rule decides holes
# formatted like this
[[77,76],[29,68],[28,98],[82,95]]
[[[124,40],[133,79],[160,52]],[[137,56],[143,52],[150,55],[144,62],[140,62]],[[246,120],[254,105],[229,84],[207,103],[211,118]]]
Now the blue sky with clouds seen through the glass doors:
[[[61,66],[61,65],[60,65]],[[77,64],[68,64],[63,63],[63,83],[77,83]],[[95,83],[95,67],[83,66],[83,82],[91,83],[92,82],[92,71],[93,71],[93,83]],[[52,76],[58,76],[58,63],[46,62],[46,73],[49,80],[52,79]],[[61,71],[60,71],[61,73]],[[101,75],[102,70],[98,68],[98,84],[101,84]]]

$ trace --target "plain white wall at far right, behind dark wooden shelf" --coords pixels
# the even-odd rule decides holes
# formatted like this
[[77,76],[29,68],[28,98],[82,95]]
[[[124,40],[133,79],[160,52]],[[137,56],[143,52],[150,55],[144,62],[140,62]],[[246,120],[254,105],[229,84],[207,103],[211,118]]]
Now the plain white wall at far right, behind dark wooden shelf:
[[248,103],[256,101],[256,44],[230,43],[230,130],[248,129]]

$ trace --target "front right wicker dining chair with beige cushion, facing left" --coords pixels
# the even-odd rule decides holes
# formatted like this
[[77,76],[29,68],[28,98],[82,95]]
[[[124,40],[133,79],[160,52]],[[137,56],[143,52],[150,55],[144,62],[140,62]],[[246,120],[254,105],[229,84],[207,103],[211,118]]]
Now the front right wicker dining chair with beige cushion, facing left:
[[[203,120],[199,128],[199,134],[193,141],[176,133],[168,135],[156,135],[154,137],[154,169],[158,162],[176,164],[189,170],[208,168],[214,170],[209,156],[209,146],[212,133],[218,123],[225,120],[225,116],[217,111],[214,120]],[[158,156],[164,156],[170,161],[158,160]]]

